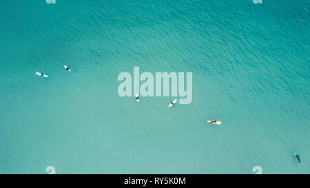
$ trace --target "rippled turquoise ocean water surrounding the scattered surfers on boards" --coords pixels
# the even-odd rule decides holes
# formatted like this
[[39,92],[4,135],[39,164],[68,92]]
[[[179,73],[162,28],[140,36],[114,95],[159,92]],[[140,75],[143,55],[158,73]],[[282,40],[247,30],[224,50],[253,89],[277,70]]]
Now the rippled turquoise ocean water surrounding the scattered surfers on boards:
[[[0,173],[309,174],[309,11],[309,0],[0,1]],[[134,66],[193,72],[192,103],[121,98],[117,76]]]

